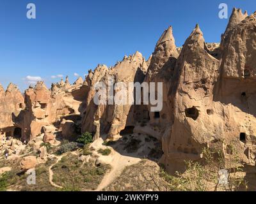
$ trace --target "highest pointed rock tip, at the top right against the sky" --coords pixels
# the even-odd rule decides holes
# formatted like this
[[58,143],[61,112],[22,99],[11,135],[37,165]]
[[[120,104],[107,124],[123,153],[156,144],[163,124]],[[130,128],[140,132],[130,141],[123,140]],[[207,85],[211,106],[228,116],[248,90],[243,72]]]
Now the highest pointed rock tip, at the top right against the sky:
[[247,11],[244,11],[243,13],[240,8],[233,8],[224,36],[226,36],[228,31],[232,30],[237,24],[239,24],[239,22],[243,21],[246,17],[248,17]]

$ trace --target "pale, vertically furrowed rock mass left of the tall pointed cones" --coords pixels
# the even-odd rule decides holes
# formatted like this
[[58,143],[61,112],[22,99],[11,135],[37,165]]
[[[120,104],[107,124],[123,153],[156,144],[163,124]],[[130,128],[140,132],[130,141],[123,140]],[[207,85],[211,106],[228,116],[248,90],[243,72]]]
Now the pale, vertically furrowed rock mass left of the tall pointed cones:
[[[99,65],[94,72],[89,71],[89,75],[86,79],[89,85],[90,91],[88,92],[88,98],[86,101],[86,110],[83,119],[82,131],[89,131],[95,133],[95,138],[99,138],[100,134],[108,134],[109,138],[118,135],[120,131],[125,129],[126,126],[134,126],[134,106],[132,105],[112,105],[99,104],[95,105],[93,98],[97,91],[95,91],[95,85],[97,83],[103,84],[108,89],[114,92],[115,96],[120,93],[122,95],[121,87],[118,87],[118,82],[122,82],[122,85],[128,86],[129,82],[143,82],[145,73],[147,71],[147,62],[143,56],[136,52],[136,54],[129,57],[124,57],[122,62],[118,62],[113,68],[108,69],[104,65]],[[109,85],[113,84],[113,87]],[[124,97],[128,96],[127,91]]]

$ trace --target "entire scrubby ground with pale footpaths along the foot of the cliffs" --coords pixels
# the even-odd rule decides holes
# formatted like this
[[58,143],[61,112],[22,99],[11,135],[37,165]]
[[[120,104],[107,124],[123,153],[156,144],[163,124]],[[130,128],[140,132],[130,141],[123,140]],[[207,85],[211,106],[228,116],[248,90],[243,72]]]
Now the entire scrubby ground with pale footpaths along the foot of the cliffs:
[[[145,127],[146,129],[149,127]],[[189,164],[187,171],[174,177],[159,164],[163,152],[157,138],[141,133],[100,137],[90,145],[78,145],[63,154],[58,150],[74,142],[58,141],[55,145],[30,142],[22,151],[0,160],[1,191],[230,191],[218,186],[212,171],[199,164]],[[39,140],[39,138],[35,139]],[[15,139],[12,140],[12,142]],[[35,144],[34,144],[35,145]],[[10,146],[12,147],[12,145]],[[34,147],[34,148],[33,148]],[[45,150],[44,157],[42,152]],[[159,147],[158,149],[156,147]],[[27,171],[35,169],[36,184],[27,183]],[[202,176],[203,174],[203,176]],[[211,179],[209,180],[211,175]],[[239,180],[239,177],[241,179]],[[247,176],[249,178],[249,175]],[[252,181],[253,175],[250,175]],[[132,178],[132,179],[131,179]],[[237,172],[239,190],[252,190]],[[216,187],[217,185],[217,187]],[[250,187],[248,189],[248,187]]]

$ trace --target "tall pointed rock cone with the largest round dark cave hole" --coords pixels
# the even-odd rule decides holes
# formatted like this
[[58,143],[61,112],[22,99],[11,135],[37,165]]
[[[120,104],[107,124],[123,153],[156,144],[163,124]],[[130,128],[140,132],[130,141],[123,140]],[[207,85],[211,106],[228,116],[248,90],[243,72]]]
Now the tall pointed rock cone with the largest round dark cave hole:
[[211,115],[218,69],[219,61],[205,50],[202,31],[196,25],[182,48],[172,79],[173,121],[170,134],[163,137],[163,150],[164,163],[173,170],[184,166],[184,160],[200,159],[204,145],[219,139],[219,120]]

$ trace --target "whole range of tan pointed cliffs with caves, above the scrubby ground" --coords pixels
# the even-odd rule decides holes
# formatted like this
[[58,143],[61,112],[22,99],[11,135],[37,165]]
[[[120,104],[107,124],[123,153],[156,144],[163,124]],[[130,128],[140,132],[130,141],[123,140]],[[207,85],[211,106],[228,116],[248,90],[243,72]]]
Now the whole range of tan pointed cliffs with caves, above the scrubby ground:
[[[248,16],[235,8],[221,43],[205,43],[196,25],[177,48],[168,27],[148,61],[136,52],[111,68],[99,64],[86,80],[78,78],[72,85],[68,77],[51,90],[38,82],[24,97],[15,85],[5,92],[0,86],[0,136],[33,140],[38,149],[41,136],[53,143],[56,136],[72,140],[86,131],[95,140],[136,131],[162,141],[161,162],[170,172],[184,170],[186,160],[202,161],[205,148],[220,151],[227,164],[234,156],[231,146],[241,166],[255,167],[255,31],[256,13]],[[163,83],[163,109],[151,112],[154,106],[144,100],[141,105],[114,102],[115,97],[135,102],[129,96],[136,90],[122,89],[131,82]],[[144,89],[139,90],[143,96]],[[148,97],[152,94],[159,94],[157,85]],[[105,98],[110,101],[104,103]],[[42,152],[45,158],[47,152]]]

